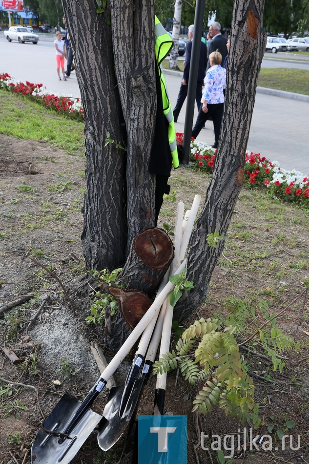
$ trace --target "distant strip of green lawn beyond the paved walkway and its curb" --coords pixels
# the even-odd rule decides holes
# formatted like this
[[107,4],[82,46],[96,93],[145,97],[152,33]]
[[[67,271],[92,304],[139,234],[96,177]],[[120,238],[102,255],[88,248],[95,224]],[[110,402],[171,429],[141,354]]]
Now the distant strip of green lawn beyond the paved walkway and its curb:
[[[168,60],[163,62],[163,67],[168,69]],[[179,70],[184,70],[183,60],[178,60]],[[258,85],[260,87],[284,90],[285,92],[309,95],[309,71],[307,69],[288,68],[262,68]]]

